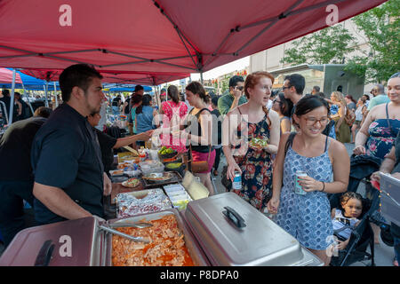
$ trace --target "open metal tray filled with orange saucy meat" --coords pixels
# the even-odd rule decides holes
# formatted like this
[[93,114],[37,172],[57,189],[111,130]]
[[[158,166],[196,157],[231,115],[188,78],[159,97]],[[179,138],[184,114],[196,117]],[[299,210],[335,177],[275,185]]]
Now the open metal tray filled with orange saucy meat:
[[[146,222],[151,226],[144,228],[129,226],[137,222]],[[113,229],[121,233],[148,238],[150,242],[130,241],[108,233],[106,237],[107,265],[204,266],[209,264],[176,209],[109,220],[108,225],[112,225]]]

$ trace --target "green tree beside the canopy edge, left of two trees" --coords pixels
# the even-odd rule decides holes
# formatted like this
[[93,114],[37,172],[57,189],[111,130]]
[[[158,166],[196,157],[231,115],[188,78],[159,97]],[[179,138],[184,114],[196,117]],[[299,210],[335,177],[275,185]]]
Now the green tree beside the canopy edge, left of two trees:
[[293,41],[285,51],[281,63],[332,64],[341,63],[348,53],[355,50],[355,37],[341,24],[321,29]]

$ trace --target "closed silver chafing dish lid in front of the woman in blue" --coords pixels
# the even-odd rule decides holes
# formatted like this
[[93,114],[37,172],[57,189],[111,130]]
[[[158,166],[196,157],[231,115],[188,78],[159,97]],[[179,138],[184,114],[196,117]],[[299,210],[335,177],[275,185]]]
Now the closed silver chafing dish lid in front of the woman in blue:
[[292,235],[235,193],[190,201],[184,216],[212,265],[323,265]]

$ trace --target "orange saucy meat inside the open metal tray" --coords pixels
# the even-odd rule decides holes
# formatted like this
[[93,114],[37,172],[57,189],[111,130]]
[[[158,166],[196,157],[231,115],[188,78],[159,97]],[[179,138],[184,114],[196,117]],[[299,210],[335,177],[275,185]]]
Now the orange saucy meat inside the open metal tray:
[[119,232],[135,237],[147,237],[149,243],[135,242],[112,236],[112,264],[114,266],[194,266],[188,248],[173,215],[145,221],[148,228],[121,227]]

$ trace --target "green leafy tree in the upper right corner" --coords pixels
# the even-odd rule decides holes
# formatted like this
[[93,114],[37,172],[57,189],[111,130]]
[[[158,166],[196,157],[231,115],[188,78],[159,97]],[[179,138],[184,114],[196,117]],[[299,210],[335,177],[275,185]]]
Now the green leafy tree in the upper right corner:
[[400,0],[389,0],[352,19],[369,50],[348,61],[346,69],[365,74],[366,83],[384,83],[400,71]]

